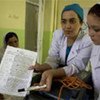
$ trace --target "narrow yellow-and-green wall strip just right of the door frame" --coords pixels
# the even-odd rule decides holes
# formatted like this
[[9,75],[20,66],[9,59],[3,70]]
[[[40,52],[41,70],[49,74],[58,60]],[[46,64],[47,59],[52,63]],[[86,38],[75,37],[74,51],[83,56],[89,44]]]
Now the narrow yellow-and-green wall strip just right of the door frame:
[[43,27],[43,39],[42,39],[42,62],[45,61],[48,55],[48,49],[50,48],[50,43],[52,39],[52,34],[54,31],[54,10],[55,10],[55,0],[43,0],[44,4],[44,22]]

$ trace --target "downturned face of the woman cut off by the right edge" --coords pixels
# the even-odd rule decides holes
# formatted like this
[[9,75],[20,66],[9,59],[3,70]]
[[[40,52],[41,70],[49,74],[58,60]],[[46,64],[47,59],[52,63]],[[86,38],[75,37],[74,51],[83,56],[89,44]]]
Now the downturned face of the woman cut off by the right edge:
[[89,35],[96,45],[100,45],[100,17],[89,14],[87,16]]

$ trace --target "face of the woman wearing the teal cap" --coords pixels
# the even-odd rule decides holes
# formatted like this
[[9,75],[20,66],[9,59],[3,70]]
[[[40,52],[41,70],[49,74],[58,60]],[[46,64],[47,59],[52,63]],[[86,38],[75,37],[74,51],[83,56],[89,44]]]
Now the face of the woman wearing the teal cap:
[[61,26],[65,36],[73,38],[78,36],[82,24],[80,23],[78,15],[70,10],[62,14]]

